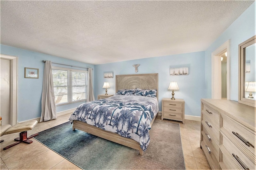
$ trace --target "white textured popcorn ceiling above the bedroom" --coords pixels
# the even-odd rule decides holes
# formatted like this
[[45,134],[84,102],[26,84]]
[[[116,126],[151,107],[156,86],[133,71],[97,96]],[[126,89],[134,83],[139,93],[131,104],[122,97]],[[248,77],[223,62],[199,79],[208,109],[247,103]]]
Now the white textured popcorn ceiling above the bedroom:
[[205,51],[254,1],[4,1],[1,44],[91,64]]

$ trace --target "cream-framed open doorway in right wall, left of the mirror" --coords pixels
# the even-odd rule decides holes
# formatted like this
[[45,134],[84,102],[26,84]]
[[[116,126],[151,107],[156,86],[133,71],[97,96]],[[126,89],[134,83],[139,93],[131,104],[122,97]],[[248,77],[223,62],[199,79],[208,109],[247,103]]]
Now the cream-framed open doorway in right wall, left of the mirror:
[[[212,52],[212,98],[230,100],[230,40]],[[222,59],[223,57],[223,59]],[[223,62],[222,62],[223,61]]]

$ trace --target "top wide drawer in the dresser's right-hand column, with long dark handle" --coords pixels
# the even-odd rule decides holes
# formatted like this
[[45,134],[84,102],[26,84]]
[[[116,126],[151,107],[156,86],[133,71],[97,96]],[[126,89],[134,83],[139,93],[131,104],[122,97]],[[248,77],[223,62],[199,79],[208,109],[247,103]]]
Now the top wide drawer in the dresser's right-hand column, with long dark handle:
[[220,128],[230,139],[237,141],[245,150],[256,155],[256,135],[228,117],[222,116],[222,127]]

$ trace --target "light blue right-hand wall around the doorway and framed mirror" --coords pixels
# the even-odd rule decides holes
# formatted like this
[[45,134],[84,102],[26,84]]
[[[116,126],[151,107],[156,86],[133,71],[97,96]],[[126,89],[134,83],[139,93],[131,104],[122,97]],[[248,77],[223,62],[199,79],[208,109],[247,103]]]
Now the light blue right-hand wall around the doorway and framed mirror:
[[205,51],[206,97],[212,98],[212,52],[230,39],[231,100],[238,101],[238,45],[256,35],[256,2]]

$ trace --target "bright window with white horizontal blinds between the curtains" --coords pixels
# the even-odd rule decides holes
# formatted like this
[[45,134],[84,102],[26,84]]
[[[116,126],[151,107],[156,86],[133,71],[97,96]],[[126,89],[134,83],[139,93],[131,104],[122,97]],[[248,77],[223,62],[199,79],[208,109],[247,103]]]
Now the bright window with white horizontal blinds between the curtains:
[[52,67],[55,104],[70,104],[86,100],[87,71]]

